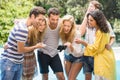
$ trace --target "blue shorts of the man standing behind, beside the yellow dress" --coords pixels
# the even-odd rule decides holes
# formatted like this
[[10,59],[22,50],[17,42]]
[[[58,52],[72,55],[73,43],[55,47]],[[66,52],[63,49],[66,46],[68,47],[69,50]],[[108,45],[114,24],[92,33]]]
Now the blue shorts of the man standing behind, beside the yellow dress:
[[92,73],[94,69],[94,58],[90,56],[84,56],[83,73]]

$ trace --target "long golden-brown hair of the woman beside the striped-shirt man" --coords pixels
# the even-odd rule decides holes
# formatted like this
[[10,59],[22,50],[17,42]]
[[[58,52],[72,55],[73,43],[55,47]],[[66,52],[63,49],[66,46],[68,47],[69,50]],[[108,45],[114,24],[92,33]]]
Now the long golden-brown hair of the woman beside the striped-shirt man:
[[[45,21],[45,26],[47,27],[46,19],[44,21]],[[28,27],[28,41],[27,41],[28,46],[33,46],[36,43],[42,41],[46,27],[45,27],[45,30],[43,32],[40,32],[38,30],[40,25],[41,25],[41,23],[37,22],[34,25]]]

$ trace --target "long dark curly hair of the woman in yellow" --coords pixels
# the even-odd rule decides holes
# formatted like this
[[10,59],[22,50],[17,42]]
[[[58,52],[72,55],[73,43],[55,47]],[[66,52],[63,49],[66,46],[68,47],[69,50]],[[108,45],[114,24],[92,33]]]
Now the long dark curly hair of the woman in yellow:
[[91,15],[93,17],[93,19],[96,21],[100,31],[102,31],[104,33],[109,32],[107,20],[101,10],[97,9],[97,10],[91,11],[90,13],[87,14],[87,17],[89,15]]

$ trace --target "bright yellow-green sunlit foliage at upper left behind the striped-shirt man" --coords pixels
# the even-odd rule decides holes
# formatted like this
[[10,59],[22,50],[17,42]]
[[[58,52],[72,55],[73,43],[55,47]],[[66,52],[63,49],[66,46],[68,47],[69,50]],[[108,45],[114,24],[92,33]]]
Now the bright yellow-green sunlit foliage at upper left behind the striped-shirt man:
[[28,16],[32,1],[5,0],[0,2],[0,44],[7,41],[14,19]]

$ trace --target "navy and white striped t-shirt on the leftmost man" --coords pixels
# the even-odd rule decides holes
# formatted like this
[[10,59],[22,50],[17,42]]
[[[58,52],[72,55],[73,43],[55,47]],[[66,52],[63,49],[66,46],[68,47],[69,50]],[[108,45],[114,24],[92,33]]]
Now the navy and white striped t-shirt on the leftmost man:
[[7,58],[15,63],[23,62],[23,54],[18,53],[17,42],[26,42],[28,29],[25,21],[15,24],[8,37],[8,48],[2,53],[3,58]]

